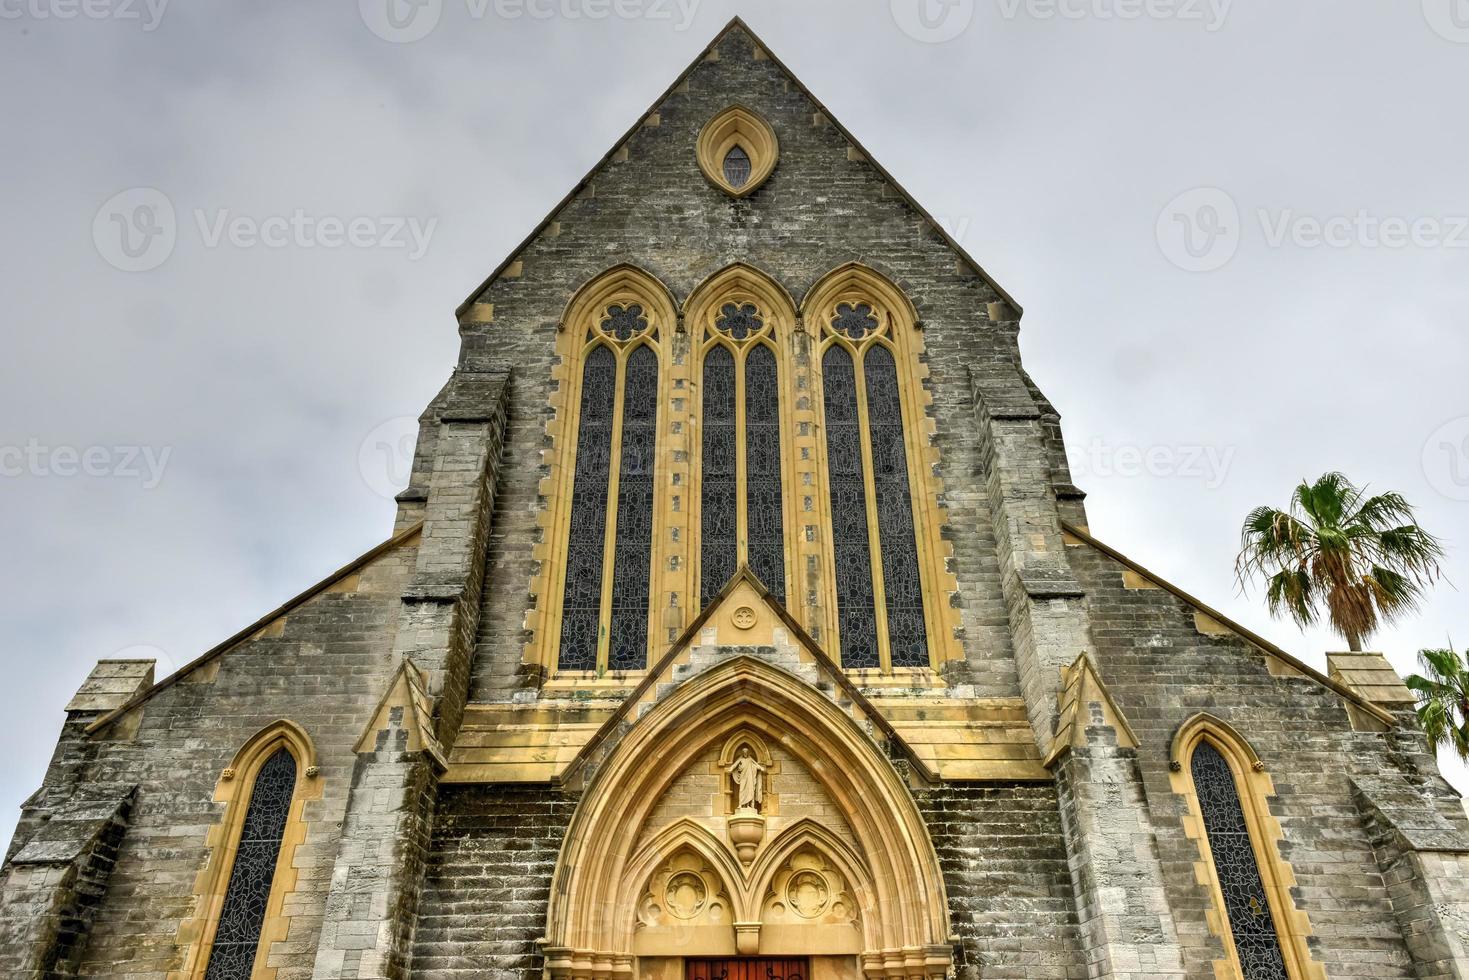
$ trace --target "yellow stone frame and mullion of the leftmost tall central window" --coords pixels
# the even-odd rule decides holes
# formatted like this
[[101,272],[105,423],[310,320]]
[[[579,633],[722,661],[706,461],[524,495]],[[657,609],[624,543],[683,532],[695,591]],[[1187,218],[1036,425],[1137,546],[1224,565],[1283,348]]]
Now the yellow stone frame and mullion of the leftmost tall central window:
[[[643,307],[648,319],[648,331],[627,342],[618,342],[599,334],[599,323],[604,310],[613,304],[638,303]],[[660,636],[660,602],[664,595],[667,576],[667,527],[676,500],[677,488],[671,488],[670,467],[671,448],[670,433],[674,416],[670,410],[673,397],[671,359],[668,351],[673,335],[677,329],[679,313],[673,294],[663,282],[635,266],[614,266],[596,276],[571,298],[561,317],[563,329],[557,336],[557,354],[560,363],[552,372],[552,379],[558,383],[551,395],[552,419],[546,423],[546,435],[551,448],[542,451],[542,461],[549,469],[549,476],[541,482],[541,495],[546,500],[541,511],[541,544],[535,550],[535,557],[541,561],[541,570],[532,582],[532,594],[536,605],[526,617],[527,627],[532,629],[530,641],[526,645],[526,660],[541,664],[548,673],[557,671],[557,654],[561,638],[561,604],[566,592],[566,552],[571,526],[571,489],[576,475],[576,439],[577,422],[582,408],[582,370],[586,357],[596,347],[607,347],[617,357],[617,416],[613,422],[613,454],[608,467],[607,492],[607,539],[602,551],[602,611],[601,636],[598,639],[598,673],[607,670],[607,626],[611,617],[613,595],[613,564],[616,560],[617,539],[617,482],[621,476],[621,422],[623,394],[626,386],[627,357],[638,347],[648,345],[658,354],[658,432],[655,436],[657,463],[654,466],[652,514],[652,580],[648,602],[648,638],[649,660],[652,649],[661,649],[665,642]],[[654,339],[657,338],[657,339]],[[677,591],[677,589],[674,589]]]

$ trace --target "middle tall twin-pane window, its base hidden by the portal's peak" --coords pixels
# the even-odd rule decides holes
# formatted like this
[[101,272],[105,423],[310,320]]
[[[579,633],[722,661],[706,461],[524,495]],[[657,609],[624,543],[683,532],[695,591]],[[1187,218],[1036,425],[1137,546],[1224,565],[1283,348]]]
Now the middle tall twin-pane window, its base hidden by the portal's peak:
[[699,597],[718,595],[743,561],[786,602],[786,519],[776,316],[730,292],[702,331]]

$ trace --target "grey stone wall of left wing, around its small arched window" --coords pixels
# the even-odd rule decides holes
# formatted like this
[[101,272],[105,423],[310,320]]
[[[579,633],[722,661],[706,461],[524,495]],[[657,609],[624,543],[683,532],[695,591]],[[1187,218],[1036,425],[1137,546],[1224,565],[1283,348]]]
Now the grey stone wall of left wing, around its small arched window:
[[[310,976],[329,886],[336,833],[357,757],[353,743],[391,676],[398,595],[413,548],[380,555],[345,588],[295,608],[278,630],[245,641],[95,738],[76,738],[47,774],[66,782],[137,783],[106,896],[79,955],[76,976],[163,980],[181,965],[179,924],[195,914],[195,879],[209,857],[206,835],[223,805],[216,780],[239,746],[289,718],[316,743],[322,798],[306,805],[300,877],[288,901],[288,939],[270,962],[278,980]],[[278,633],[278,635],[272,635]],[[71,729],[69,729],[71,730]],[[22,823],[22,833],[28,824]]]

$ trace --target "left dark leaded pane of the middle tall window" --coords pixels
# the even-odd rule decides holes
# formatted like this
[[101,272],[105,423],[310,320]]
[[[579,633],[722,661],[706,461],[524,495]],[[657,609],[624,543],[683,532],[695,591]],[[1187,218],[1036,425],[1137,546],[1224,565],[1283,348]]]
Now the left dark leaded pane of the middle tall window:
[[739,561],[734,473],[734,359],[714,347],[704,356],[704,435],[699,476],[699,597],[718,595]]

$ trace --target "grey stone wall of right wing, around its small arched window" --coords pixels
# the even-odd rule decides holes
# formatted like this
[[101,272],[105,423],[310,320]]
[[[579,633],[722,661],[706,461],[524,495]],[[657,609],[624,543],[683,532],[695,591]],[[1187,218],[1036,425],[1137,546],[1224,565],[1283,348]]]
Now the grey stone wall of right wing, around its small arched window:
[[1191,607],[1156,588],[1127,588],[1122,567],[1069,547],[1087,592],[1102,679],[1138,739],[1153,829],[1188,976],[1212,979],[1222,956],[1210,899],[1194,879],[1199,846],[1184,836],[1184,799],[1169,785],[1169,745],[1200,711],[1228,721],[1274,780],[1284,860],[1312,926],[1312,955],[1332,977],[1409,977],[1403,934],[1353,801],[1350,771],[1396,771],[1391,742],[1350,727],[1341,698],[1307,677],[1272,676],[1263,654],[1232,635],[1203,635]]

